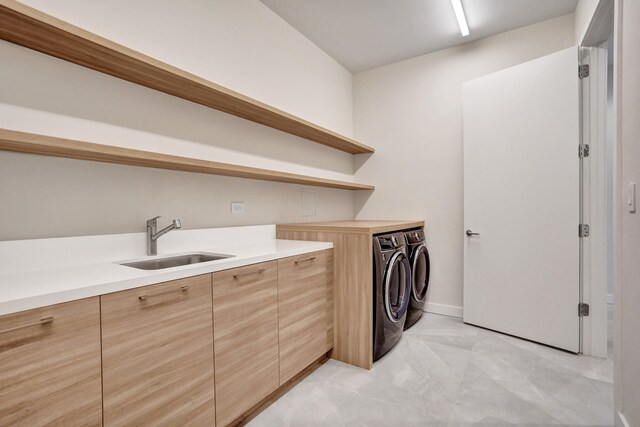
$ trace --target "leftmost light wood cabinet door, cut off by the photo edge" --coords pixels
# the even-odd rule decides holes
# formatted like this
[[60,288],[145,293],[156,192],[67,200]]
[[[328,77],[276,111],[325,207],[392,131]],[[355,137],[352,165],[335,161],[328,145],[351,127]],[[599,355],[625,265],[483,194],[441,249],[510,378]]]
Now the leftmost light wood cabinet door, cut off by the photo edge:
[[101,424],[98,297],[0,317],[0,425]]

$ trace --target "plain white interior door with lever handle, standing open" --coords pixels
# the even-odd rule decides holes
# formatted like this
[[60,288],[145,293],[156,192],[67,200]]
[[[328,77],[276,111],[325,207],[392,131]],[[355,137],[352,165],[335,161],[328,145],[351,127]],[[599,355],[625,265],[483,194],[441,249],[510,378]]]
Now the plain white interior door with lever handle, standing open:
[[464,84],[464,321],[573,352],[577,68],[570,48]]

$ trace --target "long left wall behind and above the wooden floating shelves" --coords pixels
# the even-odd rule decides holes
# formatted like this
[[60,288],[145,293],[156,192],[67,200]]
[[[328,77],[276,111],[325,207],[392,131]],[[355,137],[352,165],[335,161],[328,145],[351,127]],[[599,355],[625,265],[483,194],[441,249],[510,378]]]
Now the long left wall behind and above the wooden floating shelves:
[[[347,136],[352,75],[258,0],[25,0],[46,13]],[[0,127],[353,180],[352,156],[0,42]],[[300,186],[0,152],[0,240],[301,221]],[[353,217],[318,189],[317,218]],[[230,201],[247,212],[230,215]]]

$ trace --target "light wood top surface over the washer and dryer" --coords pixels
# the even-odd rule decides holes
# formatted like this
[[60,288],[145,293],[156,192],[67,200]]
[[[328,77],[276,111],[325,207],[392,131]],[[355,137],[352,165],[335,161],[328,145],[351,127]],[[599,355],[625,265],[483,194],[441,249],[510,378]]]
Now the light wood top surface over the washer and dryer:
[[328,221],[304,222],[298,224],[278,224],[279,230],[289,231],[327,231],[336,233],[379,234],[389,233],[409,228],[424,227],[424,221]]

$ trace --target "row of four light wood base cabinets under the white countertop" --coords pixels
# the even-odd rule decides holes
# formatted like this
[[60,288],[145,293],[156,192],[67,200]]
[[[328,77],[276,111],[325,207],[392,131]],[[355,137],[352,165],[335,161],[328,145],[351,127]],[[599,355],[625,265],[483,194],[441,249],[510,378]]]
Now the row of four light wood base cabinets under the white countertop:
[[331,249],[0,316],[0,426],[235,424],[333,318]]

